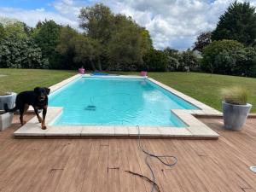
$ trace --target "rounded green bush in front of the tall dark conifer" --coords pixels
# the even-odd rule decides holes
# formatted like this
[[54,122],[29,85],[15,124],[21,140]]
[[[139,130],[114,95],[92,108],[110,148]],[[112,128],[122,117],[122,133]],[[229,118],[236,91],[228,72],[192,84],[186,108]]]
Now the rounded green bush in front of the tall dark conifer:
[[[232,67],[232,61],[229,60],[229,62],[223,62],[222,58],[224,58],[226,53],[236,53],[236,51],[243,48],[243,44],[234,40],[213,41],[212,44],[209,44],[202,49],[202,69],[210,71],[211,73],[230,74],[229,70],[231,69],[228,68]],[[230,57],[230,59],[232,59],[232,57]]]

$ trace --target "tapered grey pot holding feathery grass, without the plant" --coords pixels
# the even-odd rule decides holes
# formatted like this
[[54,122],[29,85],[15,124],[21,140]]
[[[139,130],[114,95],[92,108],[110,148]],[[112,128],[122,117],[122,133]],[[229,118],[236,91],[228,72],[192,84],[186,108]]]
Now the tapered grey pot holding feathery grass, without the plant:
[[252,105],[234,105],[222,102],[224,128],[228,130],[240,131],[247,120],[248,113]]

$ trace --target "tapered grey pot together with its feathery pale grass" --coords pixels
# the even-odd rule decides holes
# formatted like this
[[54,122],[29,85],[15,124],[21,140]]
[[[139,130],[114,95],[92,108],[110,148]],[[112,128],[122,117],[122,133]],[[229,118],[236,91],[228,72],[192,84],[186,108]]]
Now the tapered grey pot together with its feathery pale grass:
[[247,103],[248,91],[243,87],[223,90],[224,128],[239,131],[247,120],[252,105]]

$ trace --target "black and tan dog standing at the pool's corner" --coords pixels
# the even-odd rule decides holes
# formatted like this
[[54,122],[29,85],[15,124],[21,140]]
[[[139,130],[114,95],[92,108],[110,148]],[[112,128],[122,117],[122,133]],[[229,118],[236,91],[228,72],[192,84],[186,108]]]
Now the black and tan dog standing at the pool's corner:
[[[16,110],[20,111],[20,124],[24,125],[26,122],[23,120],[24,113],[31,105],[34,108],[34,111],[38,117],[39,123],[42,123],[42,129],[46,129],[45,125],[45,116],[48,108],[48,96],[50,89],[36,87],[34,90],[28,90],[20,92],[15,101],[15,108],[8,108],[7,103],[4,104],[4,110],[6,112],[15,112]],[[43,109],[43,119],[39,116],[38,110]]]

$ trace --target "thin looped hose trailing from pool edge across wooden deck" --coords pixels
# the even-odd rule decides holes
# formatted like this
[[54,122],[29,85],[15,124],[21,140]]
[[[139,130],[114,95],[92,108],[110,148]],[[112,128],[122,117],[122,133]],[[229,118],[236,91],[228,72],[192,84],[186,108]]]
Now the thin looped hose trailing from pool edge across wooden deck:
[[[139,174],[137,172],[131,172],[131,171],[125,171],[125,172],[131,173],[132,175],[135,175],[135,176],[138,176],[138,177],[142,177],[143,179],[145,179],[146,181],[151,183],[152,184],[151,192],[154,192],[154,191],[160,192],[159,185],[157,183],[155,183],[154,171],[153,171],[152,167],[150,166],[150,164],[148,163],[148,159],[151,158],[151,157],[154,157],[157,160],[160,160],[160,162],[163,165],[172,167],[172,166],[175,166],[177,164],[177,157],[173,156],[173,155],[151,154],[151,153],[149,153],[148,151],[146,151],[143,148],[143,144],[141,143],[141,133],[140,133],[139,125],[137,125],[137,132],[138,132],[137,133],[137,136],[138,136],[137,137],[137,145],[138,145],[138,148],[140,148],[143,151],[143,153],[146,154],[145,163],[148,166],[148,169],[149,169],[149,171],[151,173],[152,179],[150,179],[150,178],[148,178],[146,176],[143,176],[143,175],[141,175],[141,174]],[[174,160],[174,162],[169,164],[169,163],[165,162],[164,160],[161,160],[161,158],[172,158]]]

